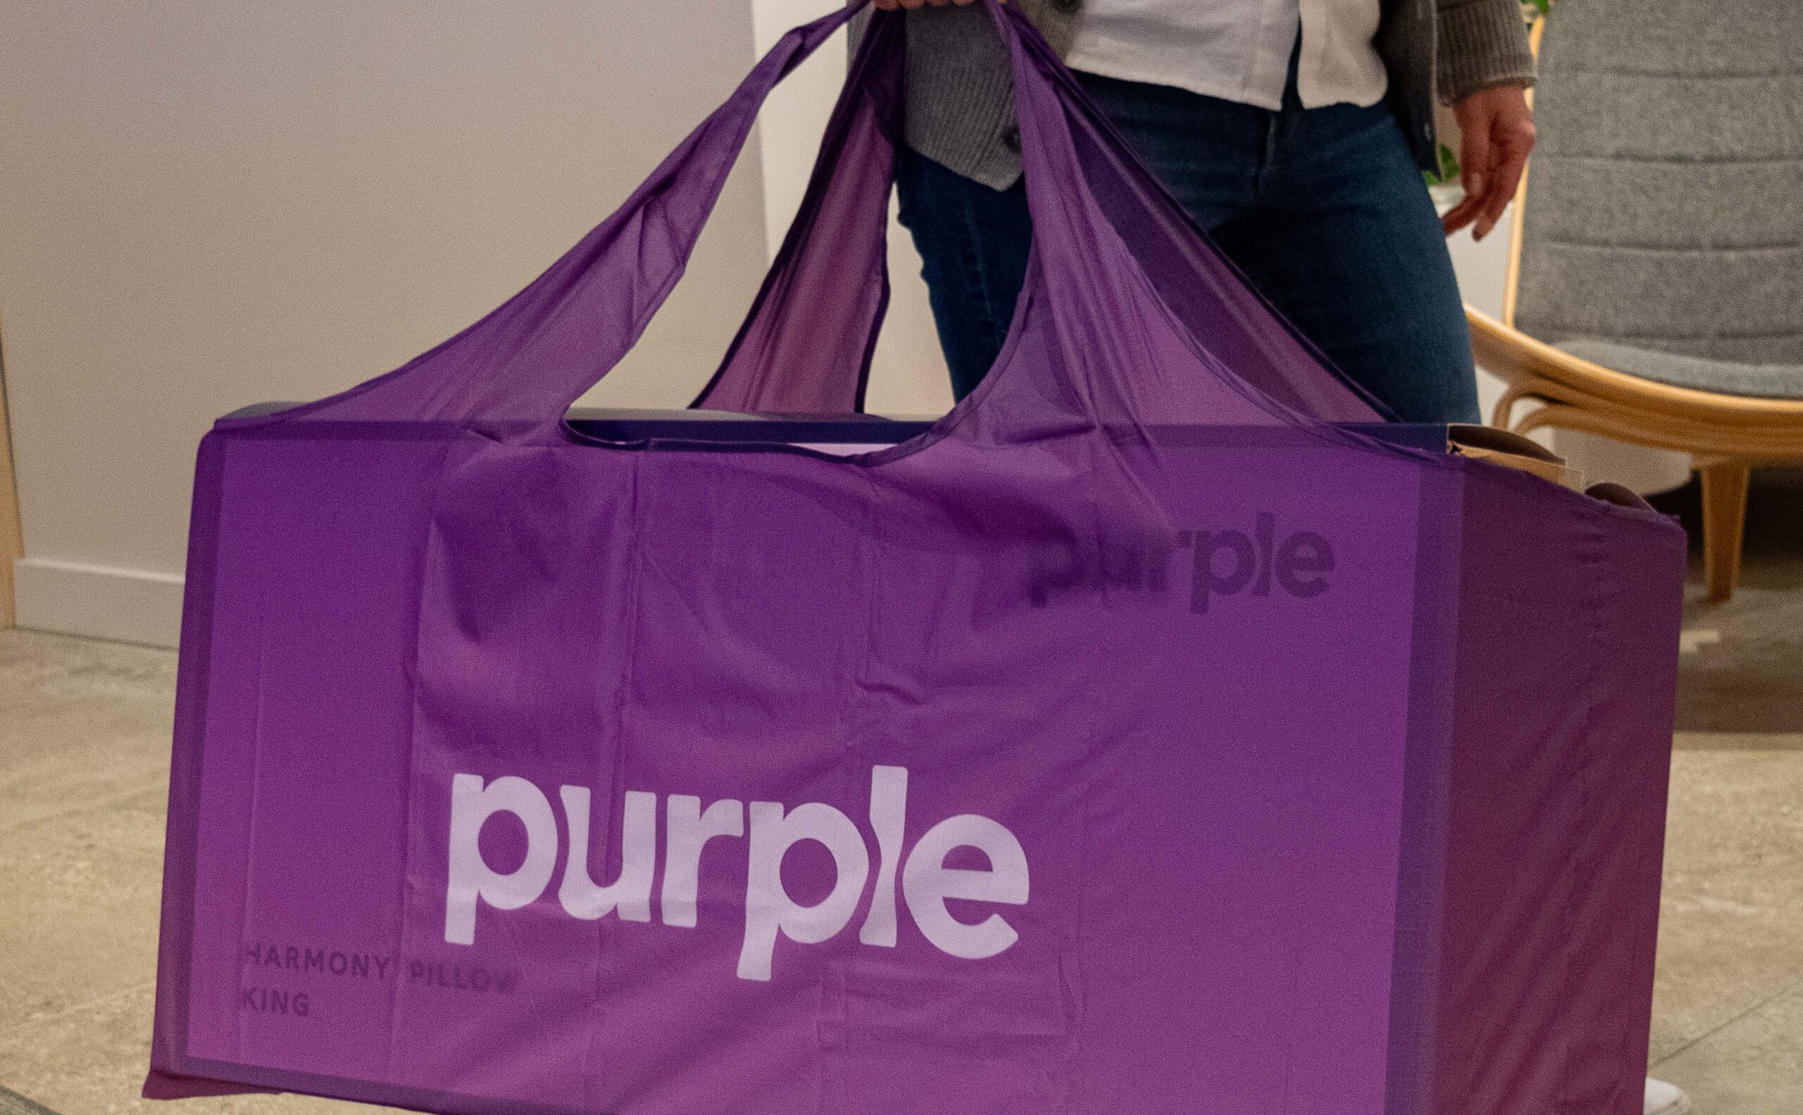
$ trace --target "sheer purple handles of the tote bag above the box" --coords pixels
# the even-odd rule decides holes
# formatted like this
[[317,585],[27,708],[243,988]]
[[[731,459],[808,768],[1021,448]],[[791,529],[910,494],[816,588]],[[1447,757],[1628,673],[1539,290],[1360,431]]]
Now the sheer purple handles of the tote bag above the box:
[[[732,97],[613,216],[498,310],[397,371],[317,403],[233,425],[429,422],[463,425],[508,443],[561,441],[570,403],[636,344],[682,277],[764,99],[864,2],[784,34]],[[1105,180],[1105,193],[1116,209],[1125,200],[1145,213],[1161,211],[1165,223],[1149,225],[1152,240],[1188,238],[1192,243],[1183,247],[1190,249],[1192,261],[1219,268],[1212,276],[1215,299],[1208,301],[1210,313],[1199,326],[1230,328],[1237,321],[1248,333],[1246,322],[1251,322],[1260,331],[1253,349],[1269,357],[1273,346],[1280,348],[1286,339],[1295,349],[1278,351],[1269,358],[1273,366],[1300,364],[1304,380],[1316,385],[1331,382],[1332,373],[1293,333],[1284,333],[1280,319],[1244,288],[1201,234],[1185,227],[1181,216],[1172,223],[1170,211],[1176,207],[1168,195],[1156,184],[1149,187],[1143,168],[1130,155],[1121,155],[1120,137],[1069,81],[1064,65],[1019,7],[1002,7],[995,0],[984,4],[1013,68],[1035,227],[1028,283],[1046,299],[1046,319],[1057,322],[1060,335],[1060,351],[1048,353],[1053,358],[1044,367],[1022,369],[1046,378],[1028,387],[1040,398],[1060,396],[1060,409],[1075,409],[1093,422],[1118,422],[1121,416],[1134,423],[1149,416],[1204,418],[1195,412],[1195,398],[1201,396],[1194,391],[1186,393],[1195,396],[1190,405],[1177,405],[1177,396],[1185,394],[1181,382],[1172,382],[1168,375],[1134,378],[1130,360],[1107,358],[1111,330],[1130,328],[1127,322],[1145,321],[1147,315],[1172,313],[1145,281],[1109,216],[1103,216],[1078,160],[1071,124],[1091,148],[1100,144],[1105,157],[1093,157],[1091,164],[1112,177]],[[813,396],[804,398],[808,405],[790,403],[784,409],[855,409],[869,346],[887,303],[883,234],[892,144],[900,139],[903,38],[900,13],[878,13],[871,20],[828,130],[802,216],[727,364],[705,393],[707,405],[723,405],[719,387],[730,380],[741,407],[772,396],[761,385],[799,382],[813,384]],[[1062,88],[1060,81],[1066,83]],[[1134,175],[1139,175],[1138,182]],[[1190,277],[1185,274],[1176,281],[1181,286]],[[1215,312],[1221,299],[1233,297],[1242,304]],[[770,337],[779,342],[768,344]],[[792,358],[804,348],[813,351],[808,360]],[[1295,400],[1273,402],[1262,385],[1242,382],[1208,353],[1197,355],[1221,387],[1269,411],[1266,422],[1336,418],[1307,414],[1309,407],[1298,412]],[[797,393],[788,389],[777,394],[795,398]],[[1341,407],[1356,411],[1352,418],[1376,416],[1338,384],[1327,394],[1331,402],[1354,400]],[[975,402],[975,396],[966,400]],[[997,423],[997,429],[1006,425]]]

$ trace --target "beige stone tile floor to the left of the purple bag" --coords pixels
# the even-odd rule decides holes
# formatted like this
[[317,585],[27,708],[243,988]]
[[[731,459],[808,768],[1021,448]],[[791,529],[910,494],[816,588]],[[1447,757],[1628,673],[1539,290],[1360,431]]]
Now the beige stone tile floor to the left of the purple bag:
[[0,1086],[61,1115],[353,1111],[301,1097],[168,1108],[137,1095],[173,692],[166,650],[0,632]]

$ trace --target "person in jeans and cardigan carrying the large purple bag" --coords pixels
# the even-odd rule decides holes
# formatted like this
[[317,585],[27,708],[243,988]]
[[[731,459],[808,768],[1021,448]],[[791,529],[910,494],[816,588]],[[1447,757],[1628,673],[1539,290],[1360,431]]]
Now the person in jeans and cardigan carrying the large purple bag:
[[[1008,58],[974,0],[907,9],[902,223],[963,398],[1026,279]],[[1008,0],[1248,279],[1403,422],[1478,422],[1446,236],[1495,229],[1534,146],[1520,0]],[[1464,200],[1441,218],[1435,103]],[[1646,1115],[1689,1099],[1646,1081]]]

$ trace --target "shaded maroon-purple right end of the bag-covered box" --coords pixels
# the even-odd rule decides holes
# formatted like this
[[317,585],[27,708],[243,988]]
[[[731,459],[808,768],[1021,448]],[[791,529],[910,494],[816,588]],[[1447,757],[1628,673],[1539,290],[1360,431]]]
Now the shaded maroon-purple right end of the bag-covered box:
[[1684,548],[1599,501],[1549,515],[1543,488],[1466,481],[1439,1115],[1641,1111]]

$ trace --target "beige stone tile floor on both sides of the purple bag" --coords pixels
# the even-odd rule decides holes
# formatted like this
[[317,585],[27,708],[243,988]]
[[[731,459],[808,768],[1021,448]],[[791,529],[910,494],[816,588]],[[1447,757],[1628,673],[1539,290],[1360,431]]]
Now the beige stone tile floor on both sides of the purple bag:
[[[63,1115],[155,1108],[137,1088],[173,683],[162,650],[0,632],[0,1086]],[[1698,1115],[1803,1111],[1803,733],[1680,735],[1666,863],[1655,1072]]]

